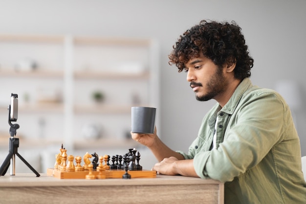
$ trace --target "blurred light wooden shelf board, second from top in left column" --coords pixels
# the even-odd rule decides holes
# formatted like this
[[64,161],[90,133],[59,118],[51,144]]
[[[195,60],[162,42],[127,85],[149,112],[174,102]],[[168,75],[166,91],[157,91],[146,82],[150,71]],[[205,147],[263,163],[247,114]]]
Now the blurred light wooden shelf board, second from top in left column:
[[15,71],[15,70],[0,70],[0,77],[63,77],[63,71],[54,70],[32,70],[32,71]]

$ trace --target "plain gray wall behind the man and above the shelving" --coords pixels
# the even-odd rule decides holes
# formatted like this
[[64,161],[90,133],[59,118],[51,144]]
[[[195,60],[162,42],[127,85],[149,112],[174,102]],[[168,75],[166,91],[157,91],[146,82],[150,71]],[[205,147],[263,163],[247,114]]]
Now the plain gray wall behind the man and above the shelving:
[[[280,80],[293,80],[305,103],[305,10],[305,0],[0,0],[0,32],[157,39],[161,48],[158,133],[171,148],[187,151],[215,101],[196,101],[186,74],[168,65],[177,37],[202,19],[235,20],[255,59],[253,83],[274,89]],[[302,155],[306,155],[305,112],[305,107],[296,111]]]

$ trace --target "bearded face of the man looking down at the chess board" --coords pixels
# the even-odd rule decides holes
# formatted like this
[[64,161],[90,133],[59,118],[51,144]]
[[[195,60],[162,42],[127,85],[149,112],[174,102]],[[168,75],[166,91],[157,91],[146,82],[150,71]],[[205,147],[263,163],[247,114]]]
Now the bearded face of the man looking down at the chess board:
[[190,87],[195,91],[199,101],[210,99],[218,101],[228,85],[223,69],[218,68],[203,54],[189,60],[185,64],[185,72],[187,72],[187,81],[190,82]]

